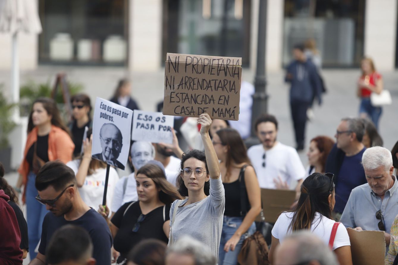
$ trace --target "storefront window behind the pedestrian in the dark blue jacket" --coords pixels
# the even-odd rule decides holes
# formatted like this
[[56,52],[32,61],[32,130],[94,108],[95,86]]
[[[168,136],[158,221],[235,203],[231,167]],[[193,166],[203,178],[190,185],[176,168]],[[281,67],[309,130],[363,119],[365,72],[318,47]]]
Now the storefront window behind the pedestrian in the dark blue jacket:
[[324,67],[358,66],[363,56],[365,0],[285,0],[283,64],[297,43],[313,39]]

